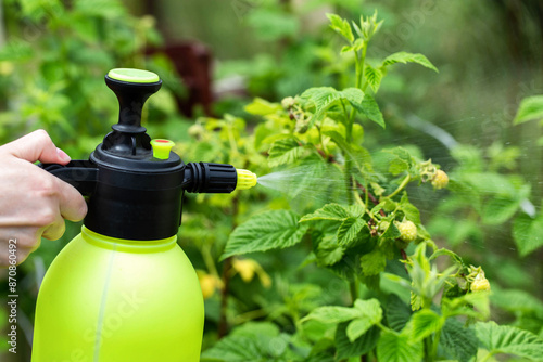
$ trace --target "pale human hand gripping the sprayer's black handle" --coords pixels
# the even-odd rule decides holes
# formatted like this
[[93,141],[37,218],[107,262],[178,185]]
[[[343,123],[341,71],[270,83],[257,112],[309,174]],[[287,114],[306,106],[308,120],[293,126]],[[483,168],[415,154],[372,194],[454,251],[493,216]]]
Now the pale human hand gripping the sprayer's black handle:
[[[37,160],[65,165],[70,156],[43,130],[0,146],[0,267],[23,262],[41,236],[58,240],[66,228],[64,219],[79,221],[87,214],[81,194],[34,165]],[[13,240],[16,258],[10,259]]]

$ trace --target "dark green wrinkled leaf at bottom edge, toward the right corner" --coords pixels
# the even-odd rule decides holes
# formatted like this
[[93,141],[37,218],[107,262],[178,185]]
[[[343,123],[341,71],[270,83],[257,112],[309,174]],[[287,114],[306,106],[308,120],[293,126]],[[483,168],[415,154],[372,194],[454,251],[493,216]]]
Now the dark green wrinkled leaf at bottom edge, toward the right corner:
[[454,318],[446,320],[441,331],[440,346],[458,362],[468,362],[477,354],[478,339],[471,326],[465,327]]

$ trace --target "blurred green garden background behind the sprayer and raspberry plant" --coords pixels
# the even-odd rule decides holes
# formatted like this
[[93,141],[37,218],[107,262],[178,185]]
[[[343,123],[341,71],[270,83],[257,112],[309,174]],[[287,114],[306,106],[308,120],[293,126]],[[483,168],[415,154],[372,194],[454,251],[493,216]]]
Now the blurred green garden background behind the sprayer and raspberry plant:
[[[536,122],[513,124],[523,98],[543,94],[539,0],[3,0],[0,143],[45,128],[73,158],[88,157],[116,119],[116,99],[103,83],[103,75],[113,67],[148,68],[163,78],[164,88],[149,101],[144,118],[153,137],[190,144],[195,141],[188,129],[198,116],[225,113],[247,118],[251,129],[254,120],[243,105],[254,96],[280,101],[308,87],[341,88],[353,76],[341,65],[350,60],[338,59],[330,49],[337,39],[325,14],[356,20],[375,9],[384,24],[380,48],[368,54],[370,60],[400,50],[420,52],[440,73],[406,66],[387,77],[377,102],[389,127],[386,132],[367,127],[369,147],[413,144],[445,171],[463,165],[469,172],[471,165],[517,174],[530,185],[521,208],[540,212],[542,128]],[[483,264],[501,287],[532,295],[539,307],[529,313],[543,320],[543,307],[538,305],[543,298],[542,249],[521,258],[509,221],[484,224],[472,211],[440,206],[442,198],[413,192],[438,242]],[[186,211],[190,220],[190,205]],[[227,236],[229,227],[223,225],[220,212],[214,218]],[[39,282],[78,229],[70,224],[61,241],[43,241],[20,267],[23,334],[17,355],[0,354],[2,361],[29,361]],[[451,242],[445,236],[454,237]],[[186,240],[191,237],[197,236],[189,233]],[[188,242],[184,247],[201,267],[199,253],[191,251]],[[0,300],[5,306],[7,283],[0,275]],[[218,308],[206,307],[211,314]],[[4,312],[0,309],[0,327],[7,324]],[[505,321],[519,318],[503,306],[496,306],[495,313]],[[207,323],[206,331],[214,331],[216,318],[209,316]],[[4,350],[2,342],[0,353]]]

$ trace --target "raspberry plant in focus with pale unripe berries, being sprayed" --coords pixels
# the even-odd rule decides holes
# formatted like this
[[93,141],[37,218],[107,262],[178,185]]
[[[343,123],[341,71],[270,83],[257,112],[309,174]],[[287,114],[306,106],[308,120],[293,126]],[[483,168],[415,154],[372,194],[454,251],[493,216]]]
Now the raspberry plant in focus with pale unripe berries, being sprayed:
[[[409,201],[408,184],[431,183],[434,192],[443,192],[447,174],[409,147],[370,153],[364,146],[368,130],[375,138],[379,127],[386,127],[375,95],[387,74],[400,63],[437,72],[435,66],[422,54],[407,52],[369,59],[368,49],[382,24],[377,13],[359,23],[333,14],[329,20],[345,42],[341,53],[354,65],[352,87],[311,88],[280,103],[255,99],[245,107],[261,119],[251,134],[243,119],[229,115],[200,119],[190,132],[201,145],[193,153],[212,154],[260,174],[268,167],[298,168],[302,171],[290,194],[310,191],[321,196],[290,210],[279,202],[249,219],[243,212],[251,206],[240,203],[249,196],[212,198],[217,206],[235,205],[230,211],[236,229],[222,255],[225,271],[250,279],[258,270],[267,277],[257,262],[240,256],[311,245],[301,268],[316,264],[338,275],[348,285],[350,300],[317,298],[318,288],[283,287],[285,282],[276,279],[285,306],[241,315],[240,326],[204,351],[202,360],[492,361],[501,353],[539,360],[543,339],[488,321],[491,282],[484,271],[439,248]],[[191,230],[190,221],[185,220],[185,228]],[[210,273],[218,275],[209,246],[203,249]],[[439,267],[438,258],[443,259]],[[224,299],[220,308],[223,319]],[[248,322],[263,318],[275,323]]]

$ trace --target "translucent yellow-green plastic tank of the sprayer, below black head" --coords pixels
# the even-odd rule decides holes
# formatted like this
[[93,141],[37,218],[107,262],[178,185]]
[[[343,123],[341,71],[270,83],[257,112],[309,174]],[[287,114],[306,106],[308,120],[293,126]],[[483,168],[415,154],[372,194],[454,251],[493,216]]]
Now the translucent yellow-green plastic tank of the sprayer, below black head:
[[202,292],[176,240],[127,241],[84,227],[43,279],[31,361],[200,361]]

